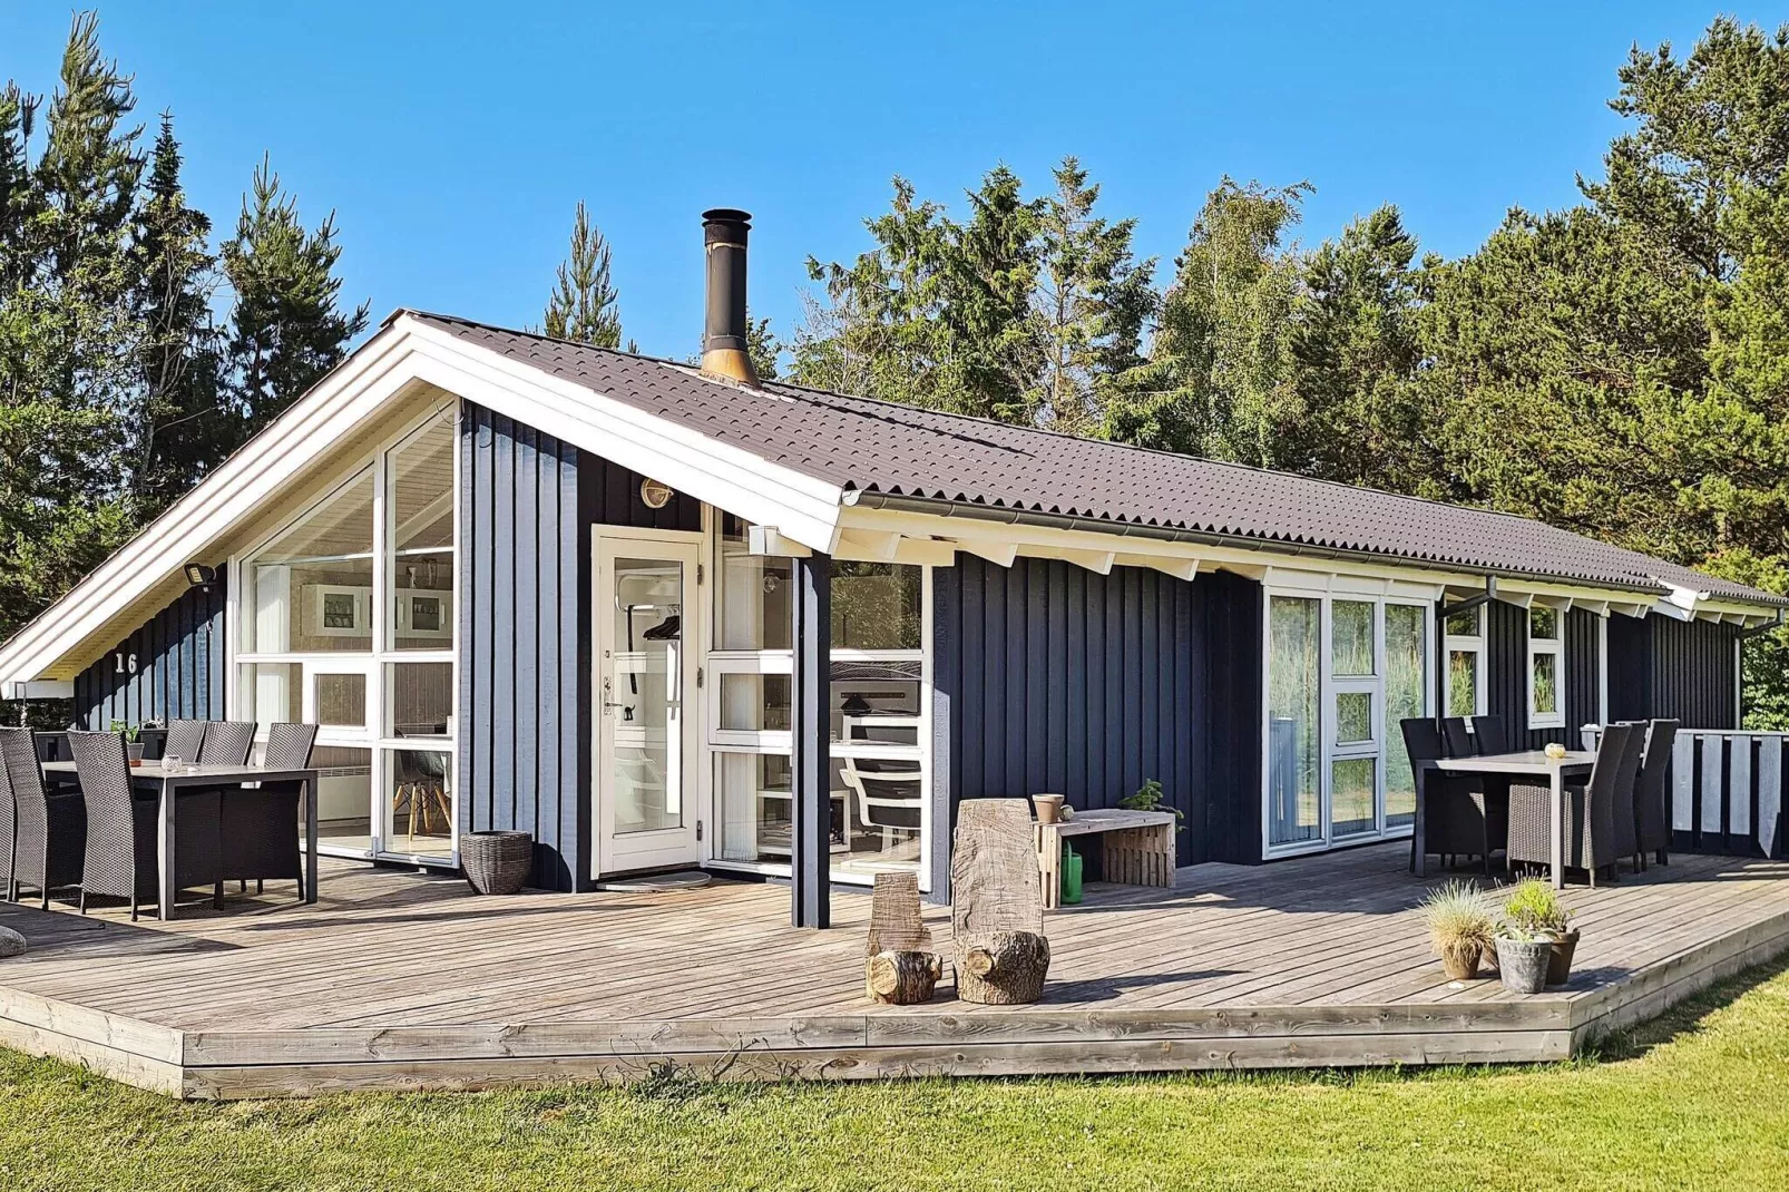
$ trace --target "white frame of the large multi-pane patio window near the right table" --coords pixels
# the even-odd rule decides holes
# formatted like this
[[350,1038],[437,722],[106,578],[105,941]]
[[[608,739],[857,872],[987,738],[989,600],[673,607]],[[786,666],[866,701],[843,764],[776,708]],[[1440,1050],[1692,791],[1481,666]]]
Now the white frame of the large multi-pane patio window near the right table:
[[[1290,600],[1315,600],[1318,601],[1318,827],[1320,832],[1304,841],[1288,841],[1276,845],[1272,839],[1272,823],[1267,816],[1270,789],[1272,789],[1272,741],[1267,730],[1268,725],[1268,698],[1272,684],[1272,626],[1268,623],[1272,616],[1272,600],[1276,596],[1285,596]],[[1335,651],[1335,601],[1360,601],[1370,603],[1372,612],[1372,675],[1342,675],[1333,673],[1333,651]],[[1435,603],[1429,600],[1420,600],[1415,596],[1397,594],[1397,592],[1367,592],[1351,591],[1338,587],[1336,591],[1317,591],[1304,587],[1279,587],[1263,585],[1261,591],[1261,856],[1268,859],[1276,857],[1293,857],[1310,852],[1326,852],[1338,847],[1352,847],[1376,839],[1401,839],[1408,838],[1415,825],[1390,825],[1386,820],[1386,748],[1388,732],[1385,709],[1386,709],[1386,641],[1385,641],[1385,609],[1388,605],[1408,605],[1422,609],[1422,714],[1429,716],[1435,709],[1435,668],[1438,666],[1435,641]],[[1336,732],[1336,696],[1351,691],[1367,691],[1372,696],[1372,741],[1347,741],[1338,743],[1335,739]],[[1361,832],[1349,832],[1347,836],[1335,834],[1335,762],[1351,759],[1372,759],[1374,762],[1374,809],[1372,825]]]

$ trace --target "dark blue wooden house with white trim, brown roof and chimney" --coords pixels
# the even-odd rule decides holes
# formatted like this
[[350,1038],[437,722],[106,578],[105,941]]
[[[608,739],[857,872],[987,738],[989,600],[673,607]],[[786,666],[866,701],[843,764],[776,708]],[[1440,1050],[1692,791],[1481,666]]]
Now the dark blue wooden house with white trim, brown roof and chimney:
[[[81,725],[322,725],[331,854],[948,895],[962,798],[1157,780],[1179,863],[1406,836],[1397,721],[1739,718],[1782,598],[1521,517],[399,310],[0,646]],[[197,580],[197,582],[195,582]]]

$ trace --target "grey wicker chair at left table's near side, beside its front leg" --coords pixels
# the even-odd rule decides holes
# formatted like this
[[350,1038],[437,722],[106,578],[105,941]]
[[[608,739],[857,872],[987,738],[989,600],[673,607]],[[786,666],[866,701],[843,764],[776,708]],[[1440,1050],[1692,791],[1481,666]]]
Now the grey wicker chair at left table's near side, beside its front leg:
[[[138,907],[157,898],[159,814],[156,800],[131,796],[131,761],[116,732],[70,732],[81,796],[88,809],[88,845],[81,866],[81,913],[93,895]],[[174,886],[211,886],[211,904],[224,906],[218,864],[218,793],[181,793],[174,816]],[[163,907],[165,911],[170,907]]]

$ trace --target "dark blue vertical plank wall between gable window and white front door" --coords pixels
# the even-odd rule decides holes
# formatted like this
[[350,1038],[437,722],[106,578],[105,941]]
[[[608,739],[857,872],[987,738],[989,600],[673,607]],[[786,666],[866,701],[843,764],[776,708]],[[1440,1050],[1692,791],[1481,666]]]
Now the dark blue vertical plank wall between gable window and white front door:
[[531,886],[590,881],[590,535],[701,505],[474,403],[460,421],[460,827],[535,838]]

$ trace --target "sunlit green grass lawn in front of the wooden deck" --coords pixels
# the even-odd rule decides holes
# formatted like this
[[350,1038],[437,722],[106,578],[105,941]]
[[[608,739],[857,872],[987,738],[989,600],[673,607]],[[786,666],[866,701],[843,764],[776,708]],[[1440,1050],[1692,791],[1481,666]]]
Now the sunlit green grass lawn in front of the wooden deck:
[[0,1188],[1789,1188],[1789,963],[1599,1058],[1419,1074],[179,1104],[0,1052]]

